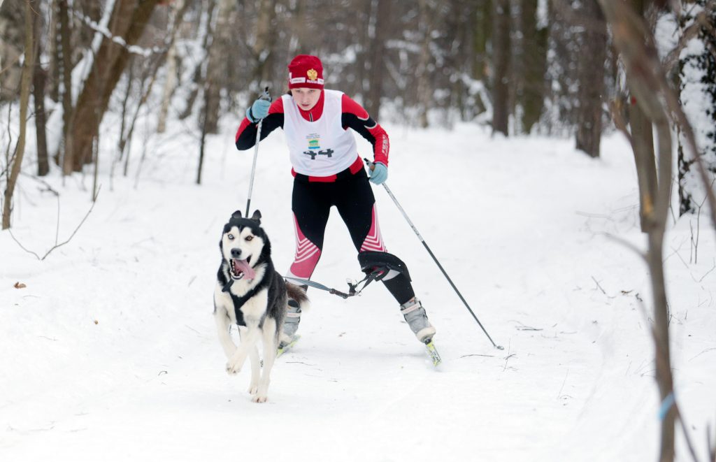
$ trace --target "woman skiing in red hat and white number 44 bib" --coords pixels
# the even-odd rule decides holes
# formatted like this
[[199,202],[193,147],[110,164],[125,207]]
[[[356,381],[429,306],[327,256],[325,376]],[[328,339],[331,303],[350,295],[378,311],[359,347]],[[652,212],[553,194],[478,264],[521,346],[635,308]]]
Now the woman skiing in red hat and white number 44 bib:
[[[368,183],[381,185],[388,176],[388,135],[357,102],[342,92],[324,89],[323,65],[316,56],[301,54],[289,64],[289,93],[273,103],[257,99],[246,111],[236,133],[236,147],[253,147],[258,121],[261,139],[277,127],[284,129],[294,175],[292,210],[296,227],[296,257],[290,277],[309,279],[321,257],[329,211],[335,206],[359,252],[385,252]],[[370,178],[358,155],[351,128],[373,145]],[[400,304],[402,315],[418,340],[427,344],[435,328],[415,298],[410,279],[391,270],[382,281]],[[301,311],[289,300],[284,324],[293,338]]]

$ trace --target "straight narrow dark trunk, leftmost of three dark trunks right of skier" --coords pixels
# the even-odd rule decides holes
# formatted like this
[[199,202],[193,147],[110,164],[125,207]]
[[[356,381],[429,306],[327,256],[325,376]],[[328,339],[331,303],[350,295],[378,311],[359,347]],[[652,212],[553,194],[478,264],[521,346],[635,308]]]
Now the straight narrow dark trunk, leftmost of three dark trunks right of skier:
[[493,16],[493,133],[509,134],[510,117],[510,0],[494,0]]

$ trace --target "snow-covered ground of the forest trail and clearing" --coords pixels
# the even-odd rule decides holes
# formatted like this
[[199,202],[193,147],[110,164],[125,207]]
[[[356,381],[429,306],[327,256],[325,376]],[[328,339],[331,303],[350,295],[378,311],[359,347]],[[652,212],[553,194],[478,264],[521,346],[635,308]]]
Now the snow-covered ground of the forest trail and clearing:
[[[646,243],[627,143],[606,137],[595,160],[571,140],[492,139],[471,124],[386,128],[388,185],[504,350],[377,187],[384,240],[410,267],[442,367],[379,285],[350,300],[311,290],[269,403],[251,403],[248,370],[224,372],[211,300],[253,152],[236,152],[227,126],[196,186],[188,129],[140,134],[130,177],[110,182],[105,137],[100,196],[67,245],[39,261],[0,232],[0,460],[655,460],[649,276],[619,242]],[[294,254],[287,157],[282,132],[261,144],[252,200],[281,271]],[[92,178],[47,183],[62,242],[89,210]],[[42,256],[58,202],[30,177],[20,187],[12,232]],[[716,439],[716,247],[704,218],[671,220],[665,245],[677,400],[702,460],[709,426]],[[323,255],[317,282],[361,276],[336,213]],[[691,460],[678,433],[679,460]]]

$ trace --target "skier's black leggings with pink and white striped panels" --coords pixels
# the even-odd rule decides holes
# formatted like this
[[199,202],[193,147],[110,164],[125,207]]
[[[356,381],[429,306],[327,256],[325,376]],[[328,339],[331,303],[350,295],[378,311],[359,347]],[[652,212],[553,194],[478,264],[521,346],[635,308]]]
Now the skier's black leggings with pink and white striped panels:
[[[335,182],[294,179],[291,208],[296,226],[296,257],[289,276],[309,279],[318,264],[331,207],[336,207],[359,252],[386,252],[375,210],[375,197],[364,170]],[[398,274],[384,284],[401,305],[415,297],[410,280]]]

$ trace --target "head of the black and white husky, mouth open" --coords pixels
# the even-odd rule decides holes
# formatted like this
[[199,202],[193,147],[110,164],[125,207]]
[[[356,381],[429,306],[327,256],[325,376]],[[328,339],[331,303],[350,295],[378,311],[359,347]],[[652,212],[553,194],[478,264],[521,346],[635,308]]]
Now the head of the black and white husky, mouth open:
[[261,229],[261,212],[256,210],[251,218],[241,216],[236,210],[224,225],[221,235],[221,256],[228,263],[232,280],[256,277],[253,268],[267,250],[269,240]]

